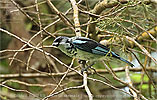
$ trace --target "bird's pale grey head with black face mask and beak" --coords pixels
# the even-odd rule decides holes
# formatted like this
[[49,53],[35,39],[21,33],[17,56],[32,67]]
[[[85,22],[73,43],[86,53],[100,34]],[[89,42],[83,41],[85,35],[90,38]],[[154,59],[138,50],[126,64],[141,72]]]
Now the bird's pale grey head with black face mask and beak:
[[67,41],[68,37],[59,36],[53,41],[52,45],[58,47],[60,44],[65,44]]

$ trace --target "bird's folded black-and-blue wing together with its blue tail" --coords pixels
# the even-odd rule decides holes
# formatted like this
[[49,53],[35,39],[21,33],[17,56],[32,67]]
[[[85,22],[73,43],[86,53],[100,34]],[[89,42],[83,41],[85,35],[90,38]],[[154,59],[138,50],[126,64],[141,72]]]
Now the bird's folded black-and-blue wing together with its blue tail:
[[120,59],[121,61],[128,63],[132,67],[134,66],[129,61],[121,58],[118,54],[114,53],[113,51],[110,51],[110,49],[107,48],[106,46],[104,46],[94,40],[91,40],[91,39],[88,39],[85,37],[78,37],[72,41],[72,44],[74,47],[76,47],[82,51],[90,52],[90,53],[96,54],[96,55],[112,56],[114,58]]

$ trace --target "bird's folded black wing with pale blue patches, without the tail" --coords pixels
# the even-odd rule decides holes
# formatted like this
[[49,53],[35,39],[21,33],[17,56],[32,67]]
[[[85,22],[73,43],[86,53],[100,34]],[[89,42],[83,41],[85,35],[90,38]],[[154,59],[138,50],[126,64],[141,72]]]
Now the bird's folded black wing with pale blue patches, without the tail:
[[97,55],[105,56],[110,51],[109,48],[107,48],[106,46],[84,37],[76,38],[72,41],[72,44],[74,45],[74,47],[80,50]]

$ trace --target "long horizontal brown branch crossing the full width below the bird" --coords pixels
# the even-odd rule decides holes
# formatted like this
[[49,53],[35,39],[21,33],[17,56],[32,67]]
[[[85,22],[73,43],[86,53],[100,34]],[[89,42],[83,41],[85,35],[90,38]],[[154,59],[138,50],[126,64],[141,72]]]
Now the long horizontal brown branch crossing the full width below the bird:
[[[132,72],[141,72],[142,68],[129,68],[130,71]],[[155,67],[146,67],[147,71],[151,71],[151,72],[157,72],[157,69]],[[124,67],[120,67],[120,68],[114,68],[113,69],[114,72],[124,72],[125,68]],[[107,70],[104,69],[99,69],[96,70],[97,73],[100,74],[108,74],[109,72]],[[63,76],[65,73],[48,73],[48,74],[44,74],[44,73],[21,73],[21,74],[0,74],[0,79],[11,79],[11,78],[51,78],[51,76],[53,77],[61,77]],[[89,72],[89,74],[91,74],[91,72]],[[73,77],[73,76],[80,76],[79,74],[77,74],[76,72],[69,72],[67,74],[67,77]]]

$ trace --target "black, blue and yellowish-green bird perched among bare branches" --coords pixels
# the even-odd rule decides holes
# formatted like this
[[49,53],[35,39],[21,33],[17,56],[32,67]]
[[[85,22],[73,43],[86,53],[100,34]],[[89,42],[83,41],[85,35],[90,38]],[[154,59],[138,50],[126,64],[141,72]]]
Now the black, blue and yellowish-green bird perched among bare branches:
[[105,45],[90,38],[78,36],[69,38],[66,36],[58,36],[53,41],[52,45],[72,58],[91,62],[116,58],[129,64],[131,67],[134,66],[131,62],[121,58]]

